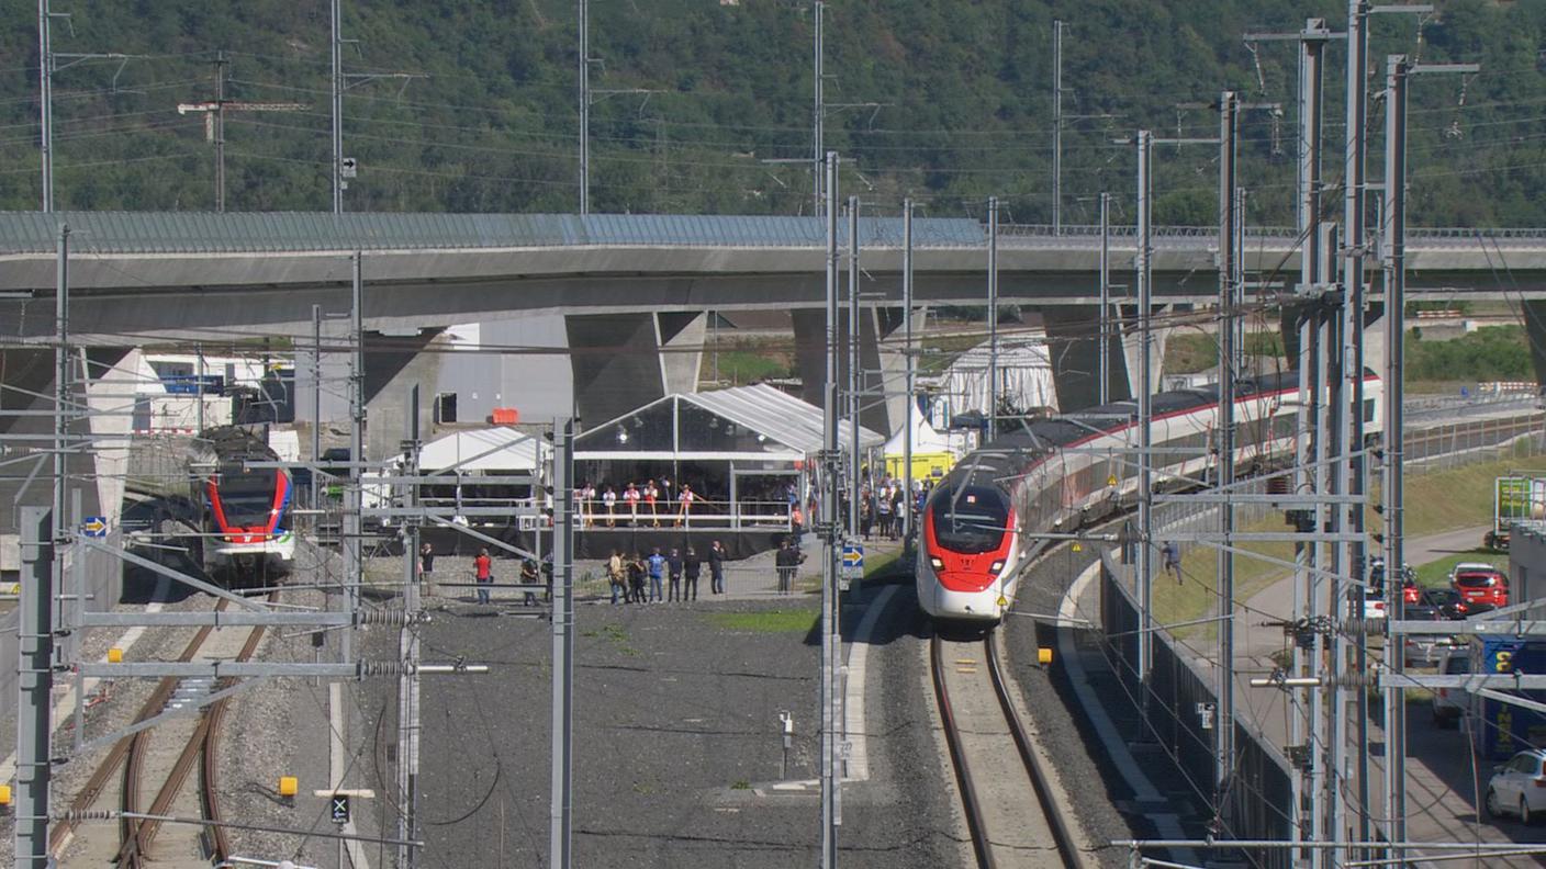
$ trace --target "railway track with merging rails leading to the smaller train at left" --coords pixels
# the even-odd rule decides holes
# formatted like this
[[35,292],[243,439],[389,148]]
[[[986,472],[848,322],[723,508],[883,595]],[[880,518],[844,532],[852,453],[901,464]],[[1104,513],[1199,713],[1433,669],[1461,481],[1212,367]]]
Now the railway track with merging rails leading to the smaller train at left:
[[[277,597],[277,592],[271,594],[269,600],[274,601]],[[226,601],[221,600],[216,609],[224,608]],[[199,628],[178,660],[250,660],[263,640],[263,628],[244,631]],[[226,687],[226,680],[162,679],[135,721],[142,722],[167,708],[195,702]],[[218,758],[224,730],[221,719],[227,702],[229,697],[215,700],[198,716],[172,717],[114,742],[71,803],[68,816],[100,816],[100,812],[91,809],[104,803],[116,784],[116,807],[122,813],[198,816],[218,824],[221,820]],[[198,789],[196,793],[190,793],[186,786],[195,770],[199,773]],[[155,796],[147,806],[144,796],[150,793],[148,786],[153,779],[161,784],[155,787]],[[79,838],[82,841],[76,843],[74,852],[83,852],[83,863],[117,863],[128,869],[158,863],[209,864],[230,857],[226,830],[220,826],[164,826],[161,821],[121,815],[113,841],[107,841],[105,829],[70,820],[60,821],[49,832],[49,852],[62,857],[71,840]],[[156,844],[155,850],[152,844]]]

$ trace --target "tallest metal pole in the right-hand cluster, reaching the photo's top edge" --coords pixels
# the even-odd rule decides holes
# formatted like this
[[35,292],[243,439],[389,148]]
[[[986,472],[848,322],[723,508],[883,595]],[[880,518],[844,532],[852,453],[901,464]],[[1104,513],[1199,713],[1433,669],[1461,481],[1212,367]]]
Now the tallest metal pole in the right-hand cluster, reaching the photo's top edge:
[[[1357,455],[1364,448],[1364,170],[1367,142],[1364,124],[1368,114],[1368,0],[1348,0],[1348,59],[1347,59],[1347,153],[1345,178],[1342,186],[1342,226],[1347,247],[1342,258],[1342,337],[1350,354],[1345,374],[1350,379],[1353,396],[1353,411],[1348,414],[1348,484],[1345,492],[1353,496],[1364,495],[1365,462]],[[1347,509],[1347,529],[1364,532],[1364,507],[1350,504]],[[1364,543],[1348,544],[1347,564],[1367,575],[1368,552]],[[1388,611],[1391,612],[1391,611]],[[1354,673],[1368,670],[1368,640],[1364,632],[1353,637]],[[1356,697],[1353,721],[1357,722],[1357,803],[1364,807],[1359,812],[1359,832],[1362,841],[1371,837],[1368,812],[1368,691],[1353,691]],[[1367,852],[1365,852],[1367,857]]]

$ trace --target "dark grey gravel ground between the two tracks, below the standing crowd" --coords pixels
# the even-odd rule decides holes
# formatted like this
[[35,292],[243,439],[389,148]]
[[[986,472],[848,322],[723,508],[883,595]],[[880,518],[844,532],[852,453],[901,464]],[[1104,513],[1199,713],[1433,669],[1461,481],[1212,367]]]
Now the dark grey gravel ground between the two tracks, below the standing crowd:
[[[815,861],[819,790],[771,786],[782,753],[781,710],[796,724],[790,779],[816,778],[819,637],[716,628],[700,611],[673,606],[581,606],[577,619],[575,863],[707,869]],[[425,645],[427,656],[430,648],[459,649],[496,668],[489,677],[425,682],[427,855],[456,866],[541,863],[549,626],[451,617],[430,628]],[[878,778],[844,792],[844,864],[952,864],[948,810],[928,781],[938,764],[928,725],[909,708],[915,670],[890,648],[877,653],[872,679],[880,690],[872,696],[881,708],[870,713],[878,736],[870,755],[872,762],[884,759],[875,762]],[[940,854],[952,857],[942,863]]]

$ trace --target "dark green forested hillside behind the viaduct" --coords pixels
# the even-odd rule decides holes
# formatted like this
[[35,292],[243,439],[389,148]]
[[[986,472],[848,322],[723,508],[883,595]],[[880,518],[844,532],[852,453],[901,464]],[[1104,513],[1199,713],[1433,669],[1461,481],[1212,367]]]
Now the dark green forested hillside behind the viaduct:
[[[207,209],[203,116],[216,51],[229,99],[301,111],[227,114],[232,210],[328,209],[326,0],[51,0],[57,207]],[[991,193],[1020,223],[1051,215],[1053,19],[1064,40],[1064,220],[1093,223],[1118,193],[1130,220],[1132,147],[1212,136],[1220,90],[1282,104],[1245,114],[1252,223],[1291,223],[1297,122],[1291,42],[1249,31],[1345,23],[1340,0],[832,0],[826,145],[856,164],[843,192],[867,207],[915,196],[935,216],[980,215]],[[349,210],[572,212],[578,201],[577,5],[572,0],[343,0]],[[1385,54],[1480,62],[1413,83],[1411,223],[1546,226],[1546,2],[1438,0],[1377,15]],[[592,209],[810,210],[812,3],[594,0]],[[0,207],[36,209],[36,6],[0,8]],[[1328,48],[1326,176],[1340,175],[1340,43]],[[414,77],[376,77],[411,73]],[[1381,172],[1382,104],[1370,113]],[[1211,223],[1206,145],[1161,147],[1158,218]],[[1336,196],[1331,207],[1340,209]]]

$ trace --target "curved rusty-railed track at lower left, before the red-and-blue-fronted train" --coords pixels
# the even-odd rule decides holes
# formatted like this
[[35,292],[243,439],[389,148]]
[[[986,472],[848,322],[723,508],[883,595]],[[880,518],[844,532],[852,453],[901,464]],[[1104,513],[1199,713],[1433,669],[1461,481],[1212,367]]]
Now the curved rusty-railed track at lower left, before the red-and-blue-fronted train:
[[[277,598],[278,592],[269,595],[269,601],[274,601]],[[221,611],[224,608],[226,601],[224,600],[218,601],[216,611]],[[212,636],[218,637],[218,634],[209,626],[199,628],[193,634],[193,639],[182,649],[182,654],[178,657],[178,660],[190,662],[198,657],[238,660],[238,662],[250,660],[252,656],[257,654],[258,643],[263,640],[263,632],[264,628],[247,629],[246,637],[241,642],[241,646],[235,648],[232,642],[210,643]],[[221,648],[213,648],[213,649],[207,648],[212,645]],[[218,683],[213,683],[209,687],[209,691],[220,691],[226,688],[230,680],[221,680]],[[148,717],[153,717],[155,714],[167,708],[169,704],[173,704],[178,694],[178,688],[182,683],[184,680],[181,679],[162,679],[156,685],[152,696],[141,707],[139,713],[135,716],[135,722],[142,722]],[[184,787],[187,784],[189,776],[196,768],[199,773],[198,799],[196,799],[198,813],[203,820],[212,821],[213,824],[206,827],[209,832],[207,835],[204,835],[203,841],[199,841],[203,835],[201,830],[199,832],[190,829],[182,830],[187,835],[181,838],[189,840],[190,843],[196,843],[190,844],[189,847],[198,849],[199,858],[209,857],[210,861],[216,864],[227,860],[230,857],[230,847],[226,841],[226,830],[218,826],[221,820],[218,758],[220,758],[220,738],[224,730],[221,727],[221,721],[226,714],[227,704],[229,697],[223,697],[220,700],[209,704],[198,716],[196,724],[192,725],[190,733],[170,734],[181,738],[179,742],[181,748],[175,748],[175,756],[173,756],[173,747],[158,744],[156,741],[156,736],[164,736],[161,742],[165,742],[165,739],[169,738],[164,733],[161,734],[156,733],[158,730],[162,730],[161,725],[150,730],[141,730],[139,733],[130,736],[124,736],[122,739],[114,742],[113,748],[93,772],[91,778],[76,795],[74,801],[71,801],[68,818],[93,816],[93,812],[90,812],[91,806],[96,804],[99,799],[102,799],[104,793],[108,790],[110,784],[114,779],[114,773],[117,772],[121,772],[121,775],[116,776],[119,786],[117,809],[122,813],[170,815],[173,813],[173,809],[176,807],[179,799],[187,799],[187,796],[184,796]],[[186,719],[170,719],[167,722],[167,725],[170,727],[167,727],[165,730],[172,731],[179,730],[176,727],[176,724],[179,722],[182,724],[181,730],[187,730]],[[156,789],[155,798],[152,799],[150,806],[145,807],[142,804],[141,796],[142,793],[147,792],[144,786],[147,776],[150,775],[150,770],[156,767],[164,768],[164,778],[161,786]],[[102,847],[111,847],[105,846],[105,843],[102,846],[97,846],[94,852],[113,854],[111,861],[117,863],[119,866],[130,869],[141,869],[147,864],[155,863],[155,860],[150,857],[150,847],[152,843],[156,841],[161,829],[162,829],[161,821],[136,820],[121,815],[117,824],[116,852],[102,850]],[[76,821],[65,820],[56,824],[49,833],[51,854],[59,857],[63,847],[70,843],[70,838],[76,832],[80,832],[79,824]],[[187,857],[193,857],[193,854],[189,854]]]

